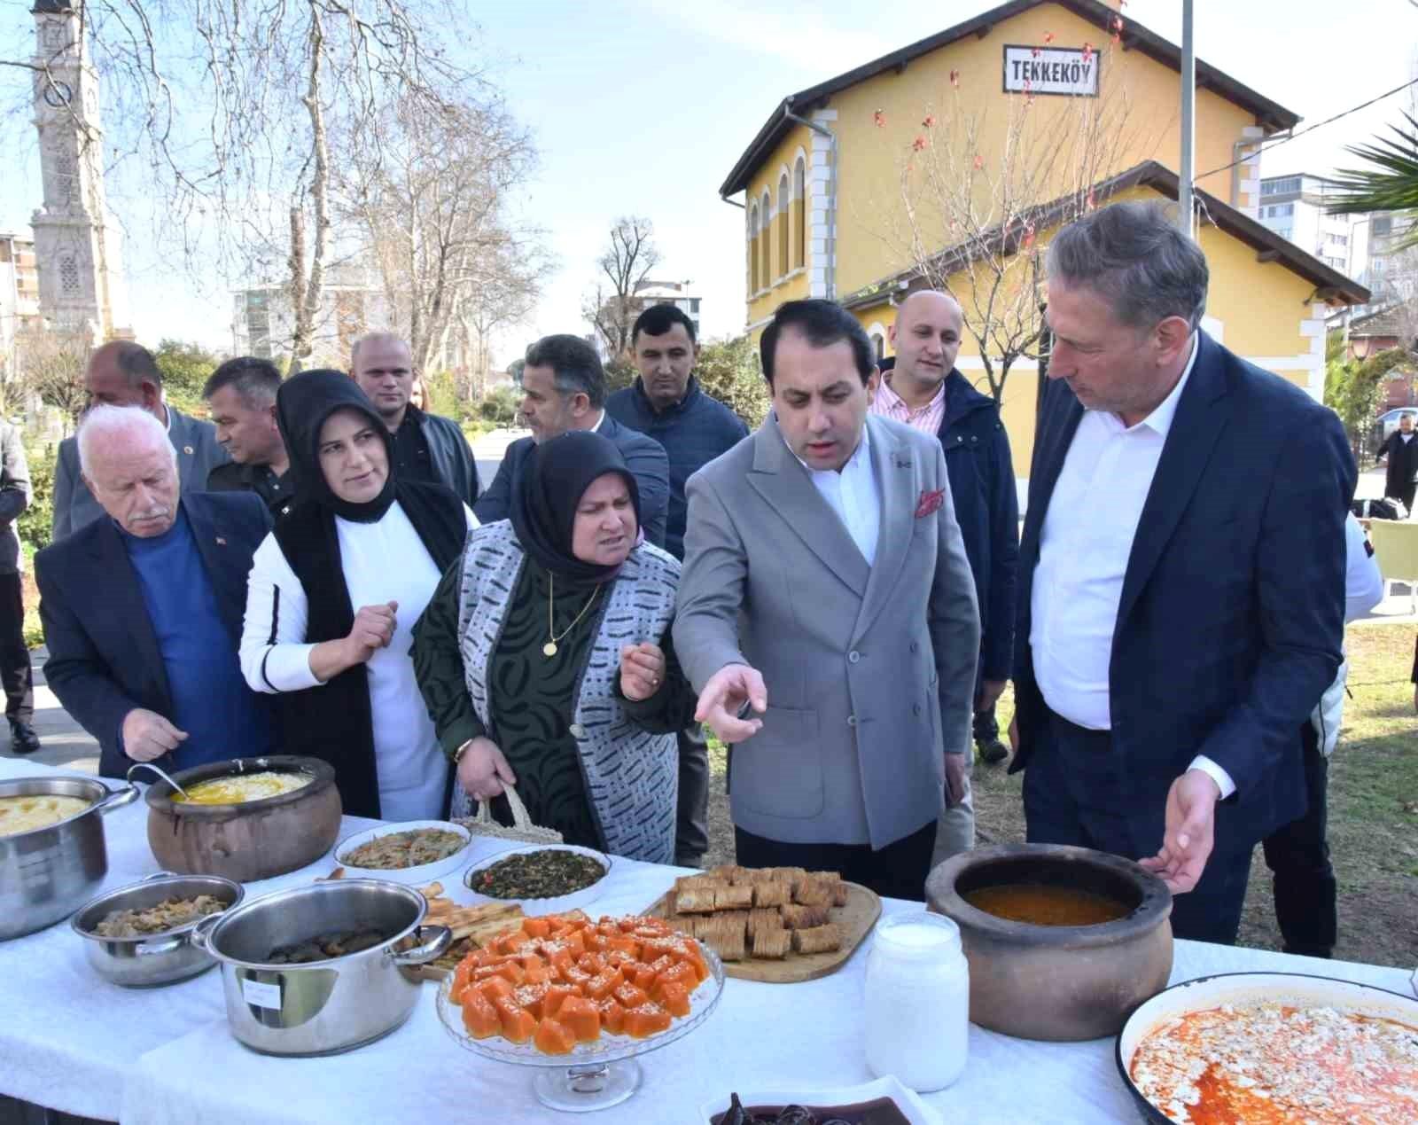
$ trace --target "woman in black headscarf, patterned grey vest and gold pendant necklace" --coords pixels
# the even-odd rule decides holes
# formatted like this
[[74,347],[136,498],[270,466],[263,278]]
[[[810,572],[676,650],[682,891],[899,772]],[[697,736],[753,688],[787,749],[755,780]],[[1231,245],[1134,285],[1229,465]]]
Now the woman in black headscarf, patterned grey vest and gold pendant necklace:
[[468,538],[415,628],[414,671],[459,797],[503,786],[567,843],[674,861],[678,748],[695,698],[669,641],[679,563],[641,542],[615,445],[536,447],[512,518]]

